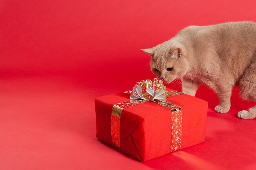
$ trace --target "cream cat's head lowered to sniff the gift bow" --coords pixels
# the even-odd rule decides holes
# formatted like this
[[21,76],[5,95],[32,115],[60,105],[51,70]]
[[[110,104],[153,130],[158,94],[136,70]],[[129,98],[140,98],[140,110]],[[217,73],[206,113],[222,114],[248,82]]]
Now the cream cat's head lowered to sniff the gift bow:
[[164,83],[170,83],[183,77],[189,69],[183,49],[183,46],[169,46],[164,43],[143,51],[151,56],[151,71]]

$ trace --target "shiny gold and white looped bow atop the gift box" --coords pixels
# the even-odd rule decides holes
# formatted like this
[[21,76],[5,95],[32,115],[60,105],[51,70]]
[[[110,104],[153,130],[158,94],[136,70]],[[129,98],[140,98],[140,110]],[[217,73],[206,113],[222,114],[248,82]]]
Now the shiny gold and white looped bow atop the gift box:
[[166,102],[167,96],[168,93],[163,81],[155,78],[153,82],[150,79],[137,82],[133,87],[130,99],[159,100]]

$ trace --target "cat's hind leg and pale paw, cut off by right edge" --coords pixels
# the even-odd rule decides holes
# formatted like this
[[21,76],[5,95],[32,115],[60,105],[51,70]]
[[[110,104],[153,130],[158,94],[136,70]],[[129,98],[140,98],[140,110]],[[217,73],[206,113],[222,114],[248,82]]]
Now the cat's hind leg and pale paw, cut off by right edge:
[[[245,74],[239,81],[240,96],[246,100],[256,102],[256,62],[247,68]],[[256,106],[249,110],[238,112],[238,117],[242,119],[254,119],[256,117]]]

